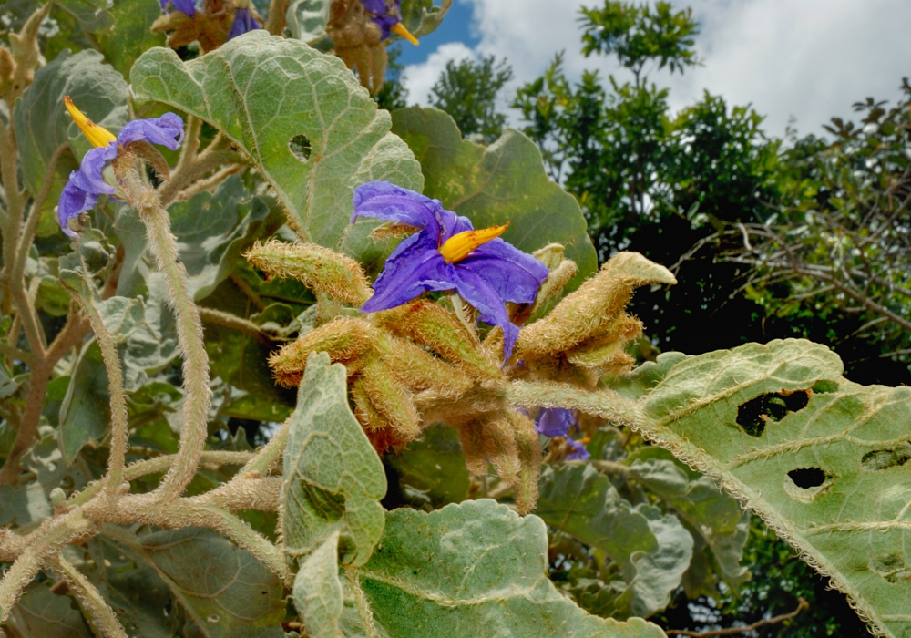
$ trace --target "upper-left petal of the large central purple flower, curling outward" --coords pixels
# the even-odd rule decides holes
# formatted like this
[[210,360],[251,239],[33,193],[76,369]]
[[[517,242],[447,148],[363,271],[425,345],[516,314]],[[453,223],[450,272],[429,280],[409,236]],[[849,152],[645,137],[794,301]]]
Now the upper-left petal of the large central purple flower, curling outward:
[[455,212],[445,211],[439,200],[403,189],[388,181],[370,181],[354,189],[354,213],[351,223],[358,217],[372,217],[384,221],[400,221],[415,228],[425,229],[435,241],[448,229],[455,228]]

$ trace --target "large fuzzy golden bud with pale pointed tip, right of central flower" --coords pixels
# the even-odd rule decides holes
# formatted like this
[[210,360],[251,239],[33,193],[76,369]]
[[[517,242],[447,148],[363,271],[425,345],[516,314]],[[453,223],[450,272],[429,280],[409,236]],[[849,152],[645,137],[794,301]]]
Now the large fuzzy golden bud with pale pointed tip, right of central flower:
[[527,326],[516,343],[518,359],[567,353],[598,339],[617,320],[632,291],[647,283],[677,283],[673,274],[638,252],[619,252],[550,314]]

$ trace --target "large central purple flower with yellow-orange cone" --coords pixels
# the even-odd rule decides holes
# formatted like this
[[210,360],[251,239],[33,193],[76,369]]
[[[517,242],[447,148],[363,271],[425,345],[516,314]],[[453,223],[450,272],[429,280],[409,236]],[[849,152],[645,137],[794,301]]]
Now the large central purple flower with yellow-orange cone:
[[505,303],[535,301],[548,268],[499,239],[506,226],[475,231],[471,221],[445,211],[440,201],[388,181],[371,181],[354,190],[352,223],[358,217],[418,229],[389,255],[362,312],[394,308],[425,291],[455,290],[475,306],[481,321],[503,329],[503,360],[509,360],[518,327],[509,321]]

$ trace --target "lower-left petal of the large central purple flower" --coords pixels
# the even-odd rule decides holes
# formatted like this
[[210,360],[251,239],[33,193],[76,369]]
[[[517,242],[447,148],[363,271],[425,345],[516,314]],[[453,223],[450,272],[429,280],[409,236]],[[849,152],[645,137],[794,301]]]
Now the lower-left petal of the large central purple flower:
[[361,312],[388,310],[428,290],[451,290],[455,288],[453,270],[436,250],[432,237],[424,232],[412,235],[386,260],[383,273],[374,282],[374,296]]

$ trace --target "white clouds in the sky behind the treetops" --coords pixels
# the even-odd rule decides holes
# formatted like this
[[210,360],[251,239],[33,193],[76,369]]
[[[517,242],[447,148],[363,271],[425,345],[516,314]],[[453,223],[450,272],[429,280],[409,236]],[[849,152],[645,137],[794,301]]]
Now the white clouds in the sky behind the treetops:
[[[425,100],[446,60],[472,53],[507,57],[514,86],[541,75],[562,49],[570,77],[584,68],[624,73],[612,60],[579,53],[578,9],[600,0],[465,1],[474,5],[480,42],[474,52],[461,43],[440,46],[424,64],[408,67],[410,100]],[[911,75],[907,0],[677,0],[674,5],[692,6],[701,22],[697,48],[704,60],[704,67],[682,77],[650,74],[659,86],[671,87],[674,108],[708,89],[729,104],[752,103],[768,116],[765,126],[773,135],[783,134],[791,116],[801,132],[820,133],[829,118],[851,117],[855,101],[895,99],[901,77]]]

